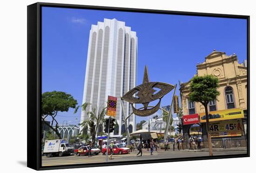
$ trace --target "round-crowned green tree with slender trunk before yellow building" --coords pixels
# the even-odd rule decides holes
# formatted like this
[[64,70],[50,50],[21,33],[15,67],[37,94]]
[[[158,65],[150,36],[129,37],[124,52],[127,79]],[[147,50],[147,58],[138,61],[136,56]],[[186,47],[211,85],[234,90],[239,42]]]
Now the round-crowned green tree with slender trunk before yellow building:
[[195,76],[190,82],[190,93],[189,101],[199,102],[204,106],[205,116],[206,116],[206,128],[208,132],[208,143],[209,143],[209,156],[212,156],[212,143],[211,135],[209,131],[209,115],[207,105],[210,101],[216,100],[220,92],[217,90],[219,88],[219,81],[217,77],[212,75],[205,76]]

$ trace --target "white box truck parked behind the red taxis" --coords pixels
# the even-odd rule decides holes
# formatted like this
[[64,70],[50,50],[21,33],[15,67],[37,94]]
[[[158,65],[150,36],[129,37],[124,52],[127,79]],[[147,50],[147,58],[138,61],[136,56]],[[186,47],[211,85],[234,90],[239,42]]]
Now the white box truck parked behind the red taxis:
[[47,157],[51,156],[63,156],[74,154],[74,147],[71,147],[69,143],[64,140],[48,140],[45,141],[43,154]]

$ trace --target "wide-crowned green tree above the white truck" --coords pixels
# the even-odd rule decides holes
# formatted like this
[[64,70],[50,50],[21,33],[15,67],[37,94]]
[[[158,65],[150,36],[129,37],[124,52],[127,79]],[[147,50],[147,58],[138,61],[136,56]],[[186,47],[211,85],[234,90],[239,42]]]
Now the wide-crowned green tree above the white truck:
[[[56,120],[56,116],[58,112],[67,112],[69,108],[74,108],[75,112],[77,111],[77,101],[65,92],[61,91],[52,91],[52,92],[45,92],[42,94],[42,112],[41,112],[41,119],[45,122],[47,117],[51,117],[51,123],[45,123],[49,128],[51,128],[55,134],[61,139],[61,134],[58,131],[58,122]],[[53,127],[55,122],[55,127]]]

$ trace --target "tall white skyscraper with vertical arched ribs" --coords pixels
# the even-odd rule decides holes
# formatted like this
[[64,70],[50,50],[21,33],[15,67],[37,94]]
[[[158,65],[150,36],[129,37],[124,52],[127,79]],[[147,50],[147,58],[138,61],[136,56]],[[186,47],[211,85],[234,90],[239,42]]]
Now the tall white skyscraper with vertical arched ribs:
[[[125,133],[120,96],[136,86],[137,40],[136,32],[116,19],[104,19],[104,22],[92,25],[90,30],[83,103],[91,103],[87,111],[102,109],[107,105],[108,96],[117,97],[115,119],[119,130],[112,136]],[[124,101],[124,107],[129,115],[131,106]],[[81,122],[88,118],[82,111]],[[135,131],[135,115],[130,116],[128,124],[130,132]]]

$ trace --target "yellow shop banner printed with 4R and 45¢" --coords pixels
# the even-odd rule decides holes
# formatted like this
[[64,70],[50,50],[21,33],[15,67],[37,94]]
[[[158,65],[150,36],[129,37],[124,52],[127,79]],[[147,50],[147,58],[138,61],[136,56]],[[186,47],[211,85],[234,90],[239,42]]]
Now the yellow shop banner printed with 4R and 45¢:
[[211,137],[230,137],[242,136],[243,134],[243,121],[242,119],[227,120],[221,122],[209,123]]

